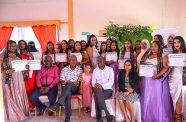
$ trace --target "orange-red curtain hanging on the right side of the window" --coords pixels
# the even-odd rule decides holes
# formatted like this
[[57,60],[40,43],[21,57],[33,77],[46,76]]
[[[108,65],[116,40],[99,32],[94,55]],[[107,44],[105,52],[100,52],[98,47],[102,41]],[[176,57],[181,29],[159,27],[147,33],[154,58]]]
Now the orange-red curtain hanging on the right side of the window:
[[46,50],[48,41],[56,44],[56,25],[32,26],[32,29],[41,45],[42,52]]

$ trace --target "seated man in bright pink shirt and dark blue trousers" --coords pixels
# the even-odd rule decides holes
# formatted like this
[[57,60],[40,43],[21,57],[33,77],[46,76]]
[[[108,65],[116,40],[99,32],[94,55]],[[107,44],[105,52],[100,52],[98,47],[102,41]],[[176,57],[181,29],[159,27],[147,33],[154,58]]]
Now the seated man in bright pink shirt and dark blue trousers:
[[[43,105],[39,97],[48,96],[50,106],[54,105],[57,97],[57,83],[59,82],[59,69],[56,65],[52,64],[52,57],[45,57],[45,65],[41,67],[41,70],[36,74],[36,85],[37,88],[33,90],[30,95],[31,101],[36,105],[38,115],[42,115],[46,106]],[[53,113],[49,111],[49,115]]]

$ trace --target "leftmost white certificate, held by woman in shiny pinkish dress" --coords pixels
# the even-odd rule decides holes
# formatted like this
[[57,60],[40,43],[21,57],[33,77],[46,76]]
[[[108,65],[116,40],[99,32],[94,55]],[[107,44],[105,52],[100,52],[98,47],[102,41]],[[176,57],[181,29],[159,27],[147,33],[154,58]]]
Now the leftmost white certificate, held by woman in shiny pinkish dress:
[[12,63],[12,68],[14,68],[15,72],[27,70],[26,69],[27,60],[14,60],[11,61],[11,63]]

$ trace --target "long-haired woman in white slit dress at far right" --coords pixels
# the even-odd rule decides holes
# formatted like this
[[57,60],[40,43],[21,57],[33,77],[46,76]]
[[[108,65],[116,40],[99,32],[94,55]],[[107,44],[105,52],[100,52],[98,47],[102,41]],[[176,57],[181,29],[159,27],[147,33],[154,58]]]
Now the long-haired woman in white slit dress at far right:
[[[173,53],[186,53],[185,41],[181,36],[174,38]],[[183,67],[173,67],[169,76],[170,94],[174,106],[175,122],[182,122]]]

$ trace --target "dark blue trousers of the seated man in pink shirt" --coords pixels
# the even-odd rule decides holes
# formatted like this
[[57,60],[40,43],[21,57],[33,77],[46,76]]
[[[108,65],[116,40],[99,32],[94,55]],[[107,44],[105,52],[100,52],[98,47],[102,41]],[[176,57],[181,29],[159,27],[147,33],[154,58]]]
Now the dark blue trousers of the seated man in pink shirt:
[[[54,105],[54,103],[56,101],[57,91],[58,91],[58,87],[56,85],[56,86],[52,87],[48,93],[44,94],[44,95],[48,96],[50,106]],[[35,88],[29,97],[30,100],[36,105],[37,109],[39,109],[40,111],[44,110],[46,108],[46,106],[43,105],[39,100],[39,97],[42,95],[43,94],[40,93],[39,88]]]

